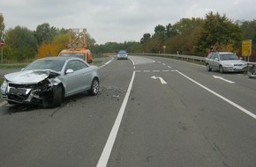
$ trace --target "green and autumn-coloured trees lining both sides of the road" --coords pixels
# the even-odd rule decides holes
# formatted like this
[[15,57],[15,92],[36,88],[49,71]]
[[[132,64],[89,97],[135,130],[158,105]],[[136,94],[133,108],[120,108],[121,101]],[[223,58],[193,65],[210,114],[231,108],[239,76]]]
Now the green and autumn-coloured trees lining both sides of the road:
[[[4,62],[26,62],[50,55],[56,56],[66,47],[69,30],[43,23],[31,31],[17,25],[4,31],[4,15],[0,13],[0,37],[5,41]],[[251,61],[256,61],[256,20],[232,21],[227,16],[210,11],[205,18],[181,18],[171,25],[156,25],[154,33],[144,33],[140,41],[109,41],[95,44],[87,33],[94,56],[117,53],[187,54],[206,56],[210,47],[218,51],[242,52],[242,40],[252,40]]]

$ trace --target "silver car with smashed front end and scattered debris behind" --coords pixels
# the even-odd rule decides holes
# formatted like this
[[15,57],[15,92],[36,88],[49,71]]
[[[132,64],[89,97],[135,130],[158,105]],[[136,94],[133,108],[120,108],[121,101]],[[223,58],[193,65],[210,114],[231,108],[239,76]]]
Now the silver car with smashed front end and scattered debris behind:
[[74,94],[99,91],[99,68],[74,57],[38,59],[4,78],[2,98],[10,104],[55,107]]

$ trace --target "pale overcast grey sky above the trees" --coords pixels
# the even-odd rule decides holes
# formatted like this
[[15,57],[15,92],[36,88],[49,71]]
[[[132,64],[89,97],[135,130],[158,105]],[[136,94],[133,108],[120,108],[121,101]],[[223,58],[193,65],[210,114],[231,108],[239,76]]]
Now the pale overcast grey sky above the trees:
[[36,30],[86,28],[96,44],[140,41],[156,25],[182,18],[206,18],[213,11],[233,21],[256,19],[255,0],[0,0],[5,30],[24,26]]

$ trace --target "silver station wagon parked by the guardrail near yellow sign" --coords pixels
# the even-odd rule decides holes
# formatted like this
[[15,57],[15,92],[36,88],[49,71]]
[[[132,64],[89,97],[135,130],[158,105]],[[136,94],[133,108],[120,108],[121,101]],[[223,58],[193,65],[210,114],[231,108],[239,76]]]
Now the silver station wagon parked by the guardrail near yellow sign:
[[245,71],[247,62],[240,60],[231,52],[212,52],[206,58],[207,70],[219,70],[221,73],[231,71]]

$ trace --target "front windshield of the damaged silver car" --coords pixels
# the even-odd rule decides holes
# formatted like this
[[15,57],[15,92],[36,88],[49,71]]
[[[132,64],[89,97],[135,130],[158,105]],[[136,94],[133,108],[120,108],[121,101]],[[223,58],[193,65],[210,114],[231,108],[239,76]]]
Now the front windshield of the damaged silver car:
[[51,69],[59,72],[63,69],[64,62],[64,60],[38,60],[29,64],[24,70]]

